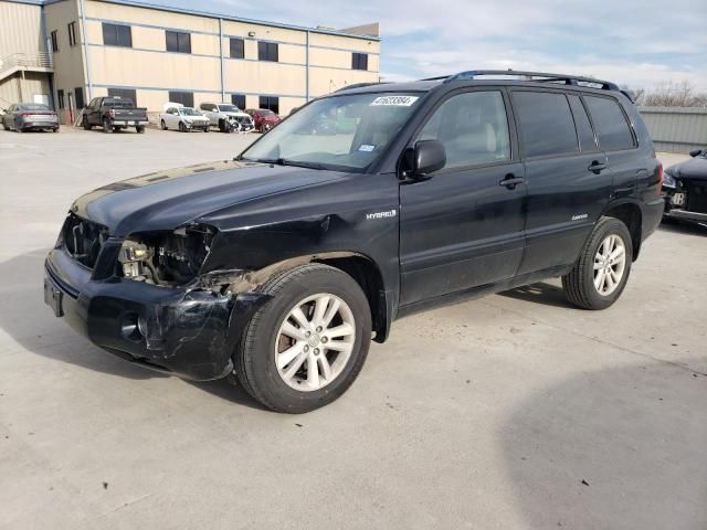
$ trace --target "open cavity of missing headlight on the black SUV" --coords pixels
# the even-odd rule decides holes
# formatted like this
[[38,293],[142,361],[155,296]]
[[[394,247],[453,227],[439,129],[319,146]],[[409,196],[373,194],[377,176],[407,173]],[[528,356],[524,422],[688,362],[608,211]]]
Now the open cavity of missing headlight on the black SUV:
[[199,274],[214,234],[207,225],[134,234],[120,248],[118,274],[157,285],[188,284]]

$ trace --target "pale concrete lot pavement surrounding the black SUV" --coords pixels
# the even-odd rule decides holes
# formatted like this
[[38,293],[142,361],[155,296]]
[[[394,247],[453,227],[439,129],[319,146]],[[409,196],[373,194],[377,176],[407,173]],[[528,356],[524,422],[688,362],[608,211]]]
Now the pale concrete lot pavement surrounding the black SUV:
[[548,282],[400,320],[300,416],[52,316],[76,195],[250,139],[0,131],[0,528],[707,528],[706,231],[662,227],[605,311]]

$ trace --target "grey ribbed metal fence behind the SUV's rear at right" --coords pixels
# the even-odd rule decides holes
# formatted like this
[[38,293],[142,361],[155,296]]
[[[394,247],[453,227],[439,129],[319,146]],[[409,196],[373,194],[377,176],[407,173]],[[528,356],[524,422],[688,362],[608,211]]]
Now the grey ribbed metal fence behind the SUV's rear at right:
[[686,153],[707,147],[707,108],[639,107],[657,151]]

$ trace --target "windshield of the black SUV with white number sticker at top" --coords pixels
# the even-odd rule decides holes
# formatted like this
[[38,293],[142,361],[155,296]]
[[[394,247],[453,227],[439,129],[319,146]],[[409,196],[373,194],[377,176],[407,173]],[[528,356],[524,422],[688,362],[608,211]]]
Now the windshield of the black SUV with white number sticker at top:
[[422,94],[351,94],[317,99],[242,157],[318,169],[363,171],[395,138]]

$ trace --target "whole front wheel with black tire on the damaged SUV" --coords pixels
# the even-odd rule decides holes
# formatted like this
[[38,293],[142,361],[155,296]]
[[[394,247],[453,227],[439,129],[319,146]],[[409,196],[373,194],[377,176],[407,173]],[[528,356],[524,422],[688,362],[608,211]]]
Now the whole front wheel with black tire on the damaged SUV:
[[309,412],[339,398],[370,346],[371,311],[361,287],[338,268],[309,264],[271,278],[272,297],[249,322],[235,370],[264,406]]

